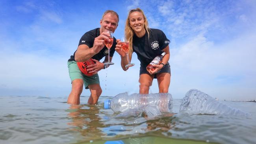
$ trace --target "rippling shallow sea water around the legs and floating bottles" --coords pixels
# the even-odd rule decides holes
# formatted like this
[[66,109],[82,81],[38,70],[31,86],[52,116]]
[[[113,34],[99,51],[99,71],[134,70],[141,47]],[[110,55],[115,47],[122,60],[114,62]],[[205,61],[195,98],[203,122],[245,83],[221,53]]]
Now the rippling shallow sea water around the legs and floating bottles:
[[255,102],[221,101],[249,116],[180,113],[181,100],[174,99],[173,114],[122,118],[111,109],[83,104],[88,98],[69,105],[67,97],[0,96],[0,144],[256,143]]

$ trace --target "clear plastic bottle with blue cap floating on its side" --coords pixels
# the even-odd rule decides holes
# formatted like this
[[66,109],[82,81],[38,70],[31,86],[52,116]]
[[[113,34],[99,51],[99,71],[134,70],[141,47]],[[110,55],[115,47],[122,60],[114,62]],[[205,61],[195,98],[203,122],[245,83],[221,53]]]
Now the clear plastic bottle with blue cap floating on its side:
[[[114,112],[125,112],[131,109],[141,110],[157,108],[160,113],[171,113],[173,109],[173,98],[169,93],[158,94],[131,94],[127,92],[118,94],[111,100],[104,101],[104,108],[111,108]],[[150,113],[157,113],[157,111],[147,110]]]

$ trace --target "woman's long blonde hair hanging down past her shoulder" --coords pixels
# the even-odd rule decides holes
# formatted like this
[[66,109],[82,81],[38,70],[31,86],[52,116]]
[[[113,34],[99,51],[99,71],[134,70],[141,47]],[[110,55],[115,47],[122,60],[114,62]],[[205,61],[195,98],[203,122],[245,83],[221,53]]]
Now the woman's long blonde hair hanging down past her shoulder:
[[134,36],[134,30],[132,30],[131,26],[130,26],[130,14],[133,13],[133,12],[139,12],[139,13],[142,13],[143,15],[143,18],[145,20],[145,25],[144,25],[144,28],[145,30],[147,31],[148,33],[148,39],[149,39],[149,27],[148,27],[148,20],[144,14],[144,12],[140,9],[140,8],[137,8],[137,9],[132,9],[129,11],[129,15],[126,19],[126,25],[125,25],[125,29],[124,29],[124,35],[125,35],[125,38],[127,41],[129,41],[129,56],[132,55],[133,53],[133,48],[132,48],[132,42],[133,42],[133,36]]

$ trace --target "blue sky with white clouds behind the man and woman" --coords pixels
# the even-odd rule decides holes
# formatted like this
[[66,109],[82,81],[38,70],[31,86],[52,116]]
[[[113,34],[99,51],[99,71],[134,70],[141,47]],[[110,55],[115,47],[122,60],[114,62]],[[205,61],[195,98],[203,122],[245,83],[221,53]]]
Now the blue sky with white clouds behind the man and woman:
[[[219,100],[256,99],[255,0],[1,0],[0,96],[68,97],[67,60],[82,35],[99,28],[111,9],[119,14],[113,35],[120,39],[128,11],[137,7],[171,41],[174,99],[190,89]],[[102,96],[138,93],[137,55],[126,72],[117,52],[112,62],[98,72]],[[150,93],[158,93],[156,79]],[[82,96],[89,95],[84,89]]]

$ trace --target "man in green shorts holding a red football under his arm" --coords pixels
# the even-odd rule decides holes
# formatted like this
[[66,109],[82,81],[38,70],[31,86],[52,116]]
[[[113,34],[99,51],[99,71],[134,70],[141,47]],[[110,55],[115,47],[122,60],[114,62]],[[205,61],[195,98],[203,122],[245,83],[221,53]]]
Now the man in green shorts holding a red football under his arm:
[[[86,32],[80,39],[76,52],[74,52],[74,55],[71,55],[68,60],[72,90],[69,94],[67,103],[80,103],[80,94],[82,93],[83,85],[85,86],[85,89],[91,91],[88,103],[95,104],[98,102],[102,89],[100,87],[97,72],[108,67],[107,65],[104,65],[104,63],[108,61],[108,48],[105,46],[104,41],[110,41],[110,35],[104,31],[111,30],[114,32],[117,29],[118,22],[118,14],[115,11],[107,10],[100,20],[100,28]],[[114,38],[113,45],[110,48],[110,61],[115,52],[116,44],[116,39]],[[102,63],[99,62],[104,56],[104,61]],[[84,62],[91,58],[95,64],[89,65],[87,71],[92,73],[93,76],[86,76],[79,70],[76,62]]]

